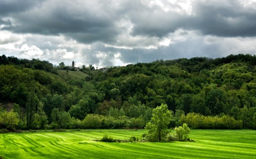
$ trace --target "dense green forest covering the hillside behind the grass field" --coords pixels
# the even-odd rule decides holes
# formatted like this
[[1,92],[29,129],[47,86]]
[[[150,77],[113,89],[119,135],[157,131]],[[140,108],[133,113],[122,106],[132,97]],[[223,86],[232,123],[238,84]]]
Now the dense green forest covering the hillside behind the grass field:
[[162,103],[169,127],[256,129],[255,64],[255,55],[240,54],[90,65],[81,79],[48,61],[2,55],[0,129],[142,128]]

